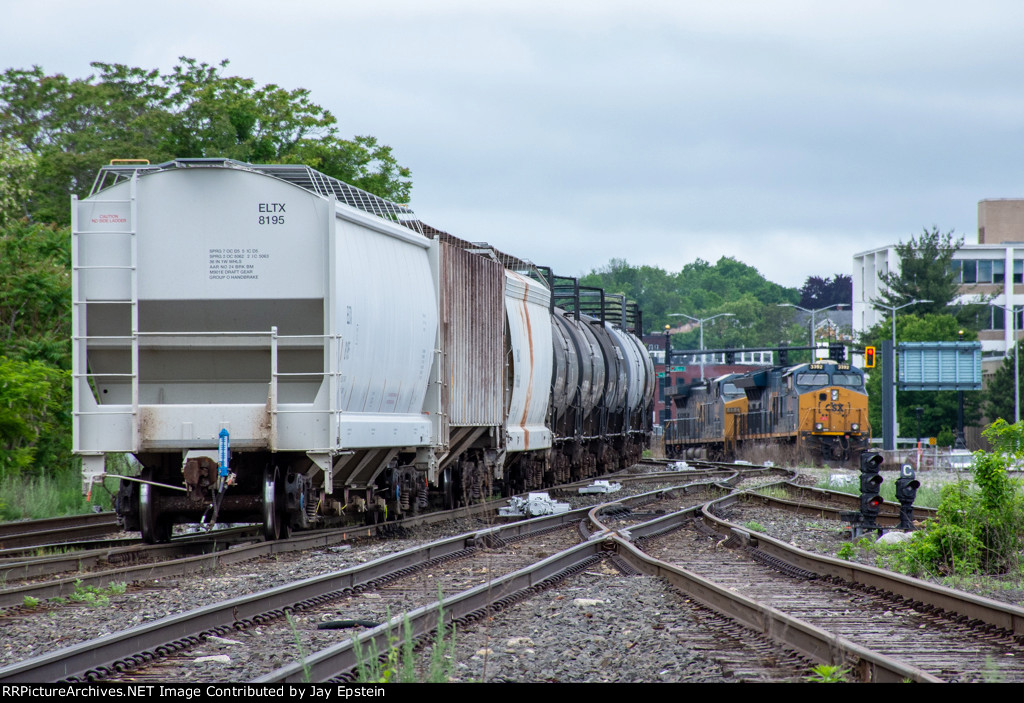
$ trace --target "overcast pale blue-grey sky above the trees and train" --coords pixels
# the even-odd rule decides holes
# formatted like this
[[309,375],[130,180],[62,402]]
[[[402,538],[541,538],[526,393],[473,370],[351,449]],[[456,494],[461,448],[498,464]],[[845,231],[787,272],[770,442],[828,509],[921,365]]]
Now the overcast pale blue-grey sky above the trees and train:
[[1024,3],[2,0],[0,69],[178,56],[304,87],[427,222],[563,275],[850,273],[1024,196]]

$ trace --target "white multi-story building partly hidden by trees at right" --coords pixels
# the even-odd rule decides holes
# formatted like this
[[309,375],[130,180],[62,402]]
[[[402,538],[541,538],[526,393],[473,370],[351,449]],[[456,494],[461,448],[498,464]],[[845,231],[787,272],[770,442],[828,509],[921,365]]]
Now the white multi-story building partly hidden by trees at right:
[[[1024,200],[978,203],[978,244],[965,244],[953,255],[962,303],[991,303],[978,339],[986,374],[1001,363],[1024,327]],[[853,256],[853,328],[862,333],[886,317],[871,305],[885,291],[880,276],[899,272],[895,245]],[[999,307],[996,307],[999,306]],[[1017,318],[1010,312],[1018,309]],[[897,313],[898,315],[899,313]]]

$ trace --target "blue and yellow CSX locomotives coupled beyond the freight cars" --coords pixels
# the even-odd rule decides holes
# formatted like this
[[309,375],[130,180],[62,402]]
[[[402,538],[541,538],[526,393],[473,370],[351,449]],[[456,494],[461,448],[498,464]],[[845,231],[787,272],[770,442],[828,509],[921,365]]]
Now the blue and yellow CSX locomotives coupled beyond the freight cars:
[[673,458],[734,458],[771,443],[842,463],[856,460],[870,439],[864,372],[830,359],[728,374],[667,395],[678,413],[665,427]]

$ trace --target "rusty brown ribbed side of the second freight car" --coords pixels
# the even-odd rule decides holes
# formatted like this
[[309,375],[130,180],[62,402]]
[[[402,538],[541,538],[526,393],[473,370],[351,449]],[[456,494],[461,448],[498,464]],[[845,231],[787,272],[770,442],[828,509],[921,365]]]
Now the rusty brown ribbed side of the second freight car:
[[505,367],[505,269],[442,243],[442,404],[450,426],[500,426]]

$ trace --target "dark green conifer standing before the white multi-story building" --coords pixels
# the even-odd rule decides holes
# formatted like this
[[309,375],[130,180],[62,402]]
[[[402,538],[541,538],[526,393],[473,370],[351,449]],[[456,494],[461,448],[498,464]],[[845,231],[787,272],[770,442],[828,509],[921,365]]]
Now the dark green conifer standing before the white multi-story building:
[[959,283],[952,267],[953,254],[964,245],[964,237],[953,239],[952,231],[942,234],[938,227],[925,229],[920,237],[896,245],[899,271],[879,277],[886,290],[874,302],[880,309],[899,307],[911,300],[930,300],[914,308],[918,314],[947,312],[958,295]]

